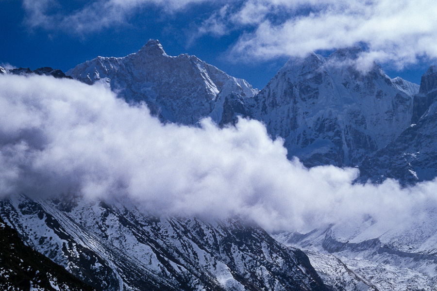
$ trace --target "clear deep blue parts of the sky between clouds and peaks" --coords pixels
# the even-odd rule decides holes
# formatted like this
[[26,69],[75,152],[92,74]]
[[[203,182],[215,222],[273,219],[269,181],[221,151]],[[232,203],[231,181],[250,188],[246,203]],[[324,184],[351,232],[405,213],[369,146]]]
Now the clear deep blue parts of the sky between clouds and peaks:
[[[63,4],[63,9],[74,11],[84,1]],[[77,6],[77,7],[76,7]],[[196,25],[207,19],[217,6],[190,5],[188,9],[172,13],[154,5],[144,5],[130,14],[126,21],[90,33],[71,33],[67,30],[34,26],[26,22],[29,13],[18,0],[0,0],[0,64],[35,69],[50,66],[67,71],[69,68],[97,56],[121,57],[140,49],[150,38],[159,39],[168,55],[188,53],[217,66],[226,73],[249,81],[261,89],[285,64],[288,57],[269,61],[232,60],[230,47],[242,30],[231,30],[221,36],[205,34],[189,41]],[[246,32],[247,32],[246,28]],[[250,28],[249,28],[250,31]],[[421,75],[429,67],[423,61],[409,65],[403,71],[384,65],[387,75],[400,76],[420,83]]]

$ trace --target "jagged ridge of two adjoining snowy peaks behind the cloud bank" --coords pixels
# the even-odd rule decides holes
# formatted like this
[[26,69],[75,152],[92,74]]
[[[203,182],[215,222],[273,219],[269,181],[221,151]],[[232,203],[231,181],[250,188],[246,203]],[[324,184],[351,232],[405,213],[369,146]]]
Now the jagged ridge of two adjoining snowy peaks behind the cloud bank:
[[168,56],[156,40],[123,58],[77,65],[67,75],[108,83],[129,101],[145,101],[162,120],[194,124],[210,116],[223,125],[237,115],[255,118],[285,140],[290,158],[307,166],[355,166],[410,125],[419,90],[391,80],[376,64],[358,70],[361,52],[353,47],[327,58],[291,58],[259,93],[194,56]]

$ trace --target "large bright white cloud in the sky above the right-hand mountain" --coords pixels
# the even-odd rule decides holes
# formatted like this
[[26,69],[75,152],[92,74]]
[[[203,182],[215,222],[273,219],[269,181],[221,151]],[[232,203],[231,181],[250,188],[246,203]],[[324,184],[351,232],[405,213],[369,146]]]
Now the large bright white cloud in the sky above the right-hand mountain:
[[[437,44],[433,41],[437,37],[436,1],[250,2],[269,5],[269,11],[273,14],[276,13],[275,9],[282,8],[288,11],[290,17],[280,23],[272,23],[271,17],[263,12],[261,15],[264,17],[256,21],[255,30],[242,34],[232,48],[230,54],[233,56],[268,60],[361,44],[368,50],[364,58],[383,63],[394,62],[400,68],[415,63],[421,56],[437,57]],[[299,15],[299,11],[305,7],[312,12],[301,12]],[[241,11],[235,15],[239,14]],[[240,22],[246,23],[247,20],[241,17]]]

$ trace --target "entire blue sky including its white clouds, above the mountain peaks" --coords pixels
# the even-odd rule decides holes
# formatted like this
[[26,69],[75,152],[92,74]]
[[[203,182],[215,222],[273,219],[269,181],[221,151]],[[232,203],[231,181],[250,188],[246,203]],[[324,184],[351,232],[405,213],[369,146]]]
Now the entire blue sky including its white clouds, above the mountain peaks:
[[418,83],[437,57],[436,15],[433,0],[1,0],[0,63],[65,71],[155,38],[262,88],[289,56],[360,45]]

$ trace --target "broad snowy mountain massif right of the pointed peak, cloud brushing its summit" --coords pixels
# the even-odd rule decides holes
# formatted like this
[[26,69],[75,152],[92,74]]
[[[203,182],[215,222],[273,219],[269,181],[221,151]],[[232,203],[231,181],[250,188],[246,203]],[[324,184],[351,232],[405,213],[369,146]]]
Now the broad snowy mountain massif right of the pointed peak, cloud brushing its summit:
[[[291,58],[252,102],[250,115],[285,140],[288,156],[305,165],[357,165],[410,125],[414,85],[390,80],[374,64],[354,62],[362,50],[324,58]],[[400,89],[401,88],[401,89]]]

